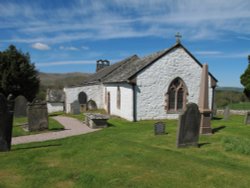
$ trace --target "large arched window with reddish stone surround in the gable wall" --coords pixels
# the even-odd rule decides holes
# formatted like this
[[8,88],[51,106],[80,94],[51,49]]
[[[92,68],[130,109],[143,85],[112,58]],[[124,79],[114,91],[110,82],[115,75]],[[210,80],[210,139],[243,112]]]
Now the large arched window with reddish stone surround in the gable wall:
[[174,79],[166,93],[166,106],[168,112],[178,112],[184,110],[187,102],[187,88],[181,78]]

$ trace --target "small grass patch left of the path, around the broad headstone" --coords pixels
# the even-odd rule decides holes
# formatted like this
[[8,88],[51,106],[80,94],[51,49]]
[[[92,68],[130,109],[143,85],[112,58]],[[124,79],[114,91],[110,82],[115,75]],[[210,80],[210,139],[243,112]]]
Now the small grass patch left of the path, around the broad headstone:
[[24,131],[21,125],[25,124],[27,122],[28,122],[27,117],[14,118],[13,119],[12,136],[13,137],[25,136],[25,135],[38,134],[38,133],[42,133],[42,132],[57,131],[57,130],[63,130],[64,129],[64,127],[59,122],[57,122],[56,120],[49,117],[49,128],[48,128],[48,130],[32,131],[32,132]]

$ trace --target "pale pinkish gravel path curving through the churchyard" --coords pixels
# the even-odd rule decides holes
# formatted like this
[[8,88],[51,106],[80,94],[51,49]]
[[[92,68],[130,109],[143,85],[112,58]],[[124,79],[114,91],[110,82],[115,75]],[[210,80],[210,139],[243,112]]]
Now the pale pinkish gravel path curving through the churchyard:
[[53,118],[57,120],[59,123],[61,123],[64,126],[65,130],[42,133],[42,134],[35,134],[35,135],[28,135],[28,136],[13,137],[12,145],[24,144],[24,143],[30,143],[30,142],[42,142],[46,140],[55,140],[59,138],[86,134],[89,132],[100,130],[100,129],[91,129],[84,123],[74,118],[65,117],[65,116],[55,116]]

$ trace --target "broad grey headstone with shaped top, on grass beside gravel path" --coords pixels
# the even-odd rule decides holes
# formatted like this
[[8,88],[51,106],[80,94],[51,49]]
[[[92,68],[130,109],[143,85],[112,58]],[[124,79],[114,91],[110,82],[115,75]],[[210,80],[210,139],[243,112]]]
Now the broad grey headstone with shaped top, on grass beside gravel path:
[[33,100],[28,104],[28,130],[40,131],[48,129],[48,109],[45,101]]

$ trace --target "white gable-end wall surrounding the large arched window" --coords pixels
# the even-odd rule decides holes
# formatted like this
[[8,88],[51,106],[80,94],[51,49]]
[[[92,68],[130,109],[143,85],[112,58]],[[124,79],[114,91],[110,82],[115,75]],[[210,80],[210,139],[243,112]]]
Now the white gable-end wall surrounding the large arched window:
[[[201,67],[182,48],[144,69],[137,76],[137,120],[178,118],[178,114],[165,111],[165,94],[176,77],[187,86],[187,102],[198,104],[201,72]],[[212,89],[209,90],[209,102],[211,107]]]

